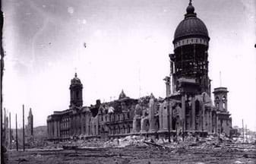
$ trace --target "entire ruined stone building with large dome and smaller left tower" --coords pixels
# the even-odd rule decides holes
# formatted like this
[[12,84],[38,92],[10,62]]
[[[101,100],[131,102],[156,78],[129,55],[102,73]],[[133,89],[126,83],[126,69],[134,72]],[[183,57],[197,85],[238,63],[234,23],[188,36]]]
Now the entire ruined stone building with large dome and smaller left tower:
[[83,84],[75,74],[69,87],[69,108],[55,111],[47,118],[49,140],[127,135],[167,137],[181,132],[229,136],[232,118],[227,88],[215,88],[214,100],[211,99],[209,41],[207,27],[190,2],[172,41],[174,51],[169,55],[170,74],[164,78],[164,99],[156,99],[153,94],[132,99],[122,90],[119,99],[108,103],[96,100],[93,106],[83,106]]

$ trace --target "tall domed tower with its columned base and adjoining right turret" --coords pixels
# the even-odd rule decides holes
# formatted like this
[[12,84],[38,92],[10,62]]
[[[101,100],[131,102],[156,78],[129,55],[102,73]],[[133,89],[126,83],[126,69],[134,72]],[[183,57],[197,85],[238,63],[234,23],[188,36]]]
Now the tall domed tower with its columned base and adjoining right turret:
[[[190,1],[185,18],[176,27],[170,76],[166,80],[166,99],[170,131],[229,135],[232,118],[227,110],[227,88],[215,88],[211,100],[208,76],[210,36],[206,25]],[[225,109],[225,110],[224,110]]]

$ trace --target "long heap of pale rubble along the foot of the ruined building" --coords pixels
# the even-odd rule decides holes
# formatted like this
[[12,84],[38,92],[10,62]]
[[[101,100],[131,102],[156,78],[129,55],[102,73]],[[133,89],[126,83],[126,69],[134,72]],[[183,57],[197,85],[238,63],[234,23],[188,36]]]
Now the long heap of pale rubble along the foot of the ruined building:
[[231,140],[224,134],[208,135],[207,137],[198,137],[192,134],[187,134],[184,137],[172,137],[171,142],[168,139],[160,138],[153,139],[144,136],[127,136],[115,138],[111,140],[100,140],[91,138],[87,140],[69,140],[65,142],[47,142],[46,149],[59,149],[62,147],[77,147],[77,148],[107,148],[107,147],[157,147],[158,149],[168,149],[172,153],[185,153],[194,150],[209,150],[221,152],[246,152],[255,150],[253,144],[237,144],[236,140]]

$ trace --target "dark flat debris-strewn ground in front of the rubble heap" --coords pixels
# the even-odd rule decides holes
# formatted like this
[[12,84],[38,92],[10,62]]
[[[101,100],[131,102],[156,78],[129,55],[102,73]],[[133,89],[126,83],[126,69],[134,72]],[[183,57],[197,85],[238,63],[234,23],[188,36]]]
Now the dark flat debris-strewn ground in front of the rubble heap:
[[82,148],[76,150],[30,149],[8,151],[8,163],[17,164],[94,164],[94,163],[256,163],[255,145],[229,144],[226,147],[198,148],[128,146]]

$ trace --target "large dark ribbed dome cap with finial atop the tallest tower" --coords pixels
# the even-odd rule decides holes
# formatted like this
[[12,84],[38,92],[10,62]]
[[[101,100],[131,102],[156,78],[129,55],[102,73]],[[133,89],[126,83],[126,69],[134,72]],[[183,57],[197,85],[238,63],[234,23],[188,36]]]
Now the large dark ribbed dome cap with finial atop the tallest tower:
[[197,14],[194,13],[194,7],[191,3],[188,5],[185,19],[179,23],[175,30],[174,41],[186,38],[187,36],[201,36],[210,39],[207,27],[204,22],[197,17]]

